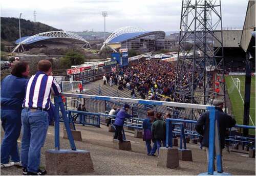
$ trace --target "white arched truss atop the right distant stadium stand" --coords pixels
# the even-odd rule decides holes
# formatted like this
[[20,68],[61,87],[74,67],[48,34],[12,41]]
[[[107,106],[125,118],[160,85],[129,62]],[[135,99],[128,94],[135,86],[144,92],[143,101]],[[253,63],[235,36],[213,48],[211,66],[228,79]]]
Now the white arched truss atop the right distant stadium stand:
[[138,27],[132,27],[132,26],[126,26],[126,27],[122,27],[122,28],[118,28],[117,30],[115,30],[105,41],[105,43],[110,42],[113,38],[122,35],[122,34],[126,34],[126,33],[133,33],[133,32],[145,32],[146,30],[142,29],[142,28],[138,28]]

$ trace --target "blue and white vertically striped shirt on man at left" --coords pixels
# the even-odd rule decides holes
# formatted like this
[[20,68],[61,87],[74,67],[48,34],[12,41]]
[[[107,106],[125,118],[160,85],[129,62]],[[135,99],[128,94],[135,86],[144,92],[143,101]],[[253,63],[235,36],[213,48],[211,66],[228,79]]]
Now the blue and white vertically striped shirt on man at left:
[[23,107],[40,107],[48,110],[51,102],[51,90],[55,95],[59,95],[61,92],[60,86],[53,76],[38,71],[27,82]]

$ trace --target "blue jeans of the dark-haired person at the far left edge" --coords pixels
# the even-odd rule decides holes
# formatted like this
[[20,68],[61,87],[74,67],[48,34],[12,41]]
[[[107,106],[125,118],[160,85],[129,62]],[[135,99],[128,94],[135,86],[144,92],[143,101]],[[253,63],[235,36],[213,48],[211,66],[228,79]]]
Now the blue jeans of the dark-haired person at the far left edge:
[[20,111],[1,108],[1,121],[5,131],[5,136],[1,144],[1,163],[8,163],[10,157],[13,162],[19,162],[17,139],[22,128]]

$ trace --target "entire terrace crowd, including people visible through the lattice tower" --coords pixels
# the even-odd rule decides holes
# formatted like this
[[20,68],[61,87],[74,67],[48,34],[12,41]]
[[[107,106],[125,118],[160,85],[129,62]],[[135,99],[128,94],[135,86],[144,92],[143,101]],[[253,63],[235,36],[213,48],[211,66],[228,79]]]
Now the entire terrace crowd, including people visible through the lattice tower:
[[[186,72],[183,73],[181,82],[176,83],[182,94],[176,94],[178,102],[189,102],[188,97],[184,97],[184,92],[189,94],[191,82],[191,65],[186,65]],[[140,98],[148,100],[161,100],[165,97],[166,101],[174,101],[175,94],[176,62],[165,62],[159,59],[139,61],[137,65],[129,65],[125,69],[119,69],[114,73],[103,76],[104,84],[110,83],[118,85],[119,90],[129,89],[131,95],[137,97],[135,90]],[[194,78],[195,86],[202,87],[198,76]],[[182,95],[182,96],[181,96]]]

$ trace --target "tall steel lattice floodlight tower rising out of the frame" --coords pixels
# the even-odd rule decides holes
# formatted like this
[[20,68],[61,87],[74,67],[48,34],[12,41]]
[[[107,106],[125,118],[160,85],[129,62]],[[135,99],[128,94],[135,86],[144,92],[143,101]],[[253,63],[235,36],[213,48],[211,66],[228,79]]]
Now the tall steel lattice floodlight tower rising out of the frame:
[[[176,69],[176,102],[225,101],[220,1],[182,1]],[[181,111],[180,116],[195,119],[198,113]]]

